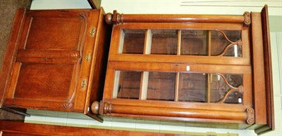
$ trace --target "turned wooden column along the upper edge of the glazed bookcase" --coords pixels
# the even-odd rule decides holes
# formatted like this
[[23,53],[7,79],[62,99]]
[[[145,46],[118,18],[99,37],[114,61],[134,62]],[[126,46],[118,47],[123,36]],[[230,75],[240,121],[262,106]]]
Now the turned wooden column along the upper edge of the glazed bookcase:
[[243,15],[161,15],[161,14],[120,14],[114,11],[113,14],[107,13],[106,22],[110,24],[120,24],[125,22],[207,22],[207,23],[243,23],[250,25],[250,13]]

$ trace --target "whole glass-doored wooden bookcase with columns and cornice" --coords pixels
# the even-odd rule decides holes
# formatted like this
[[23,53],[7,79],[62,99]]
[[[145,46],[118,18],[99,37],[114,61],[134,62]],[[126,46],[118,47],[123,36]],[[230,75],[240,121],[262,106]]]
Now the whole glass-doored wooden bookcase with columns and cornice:
[[267,7],[243,15],[107,14],[104,116],[271,130]]

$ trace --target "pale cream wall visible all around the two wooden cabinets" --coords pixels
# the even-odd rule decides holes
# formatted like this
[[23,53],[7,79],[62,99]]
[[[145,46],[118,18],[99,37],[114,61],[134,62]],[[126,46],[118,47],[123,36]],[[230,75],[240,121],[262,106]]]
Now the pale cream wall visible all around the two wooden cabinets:
[[[269,22],[271,28],[271,55],[274,74],[274,110],[276,130],[264,135],[282,135],[281,119],[281,60],[282,60],[282,1],[188,1],[188,0],[102,0],[106,13],[116,9],[119,13],[185,13],[185,14],[238,14],[244,11],[260,12],[264,4],[269,6]],[[90,8],[87,0],[33,0],[32,9],[51,8]],[[25,122],[46,123],[52,125],[71,125],[89,128],[109,128],[121,130],[137,130],[150,132],[172,132],[179,134],[217,134],[217,135],[256,135],[253,130],[218,129],[212,125],[210,128],[188,127],[188,123],[167,123],[164,121],[124,120],[121,118],[108,118],[104,123],[98,123],[91,118],[56,111],[35,111],[36,116],[25,118]],[[52,117],[59,114],[59,118]],[[200,125],[199,125],[200,126]]]

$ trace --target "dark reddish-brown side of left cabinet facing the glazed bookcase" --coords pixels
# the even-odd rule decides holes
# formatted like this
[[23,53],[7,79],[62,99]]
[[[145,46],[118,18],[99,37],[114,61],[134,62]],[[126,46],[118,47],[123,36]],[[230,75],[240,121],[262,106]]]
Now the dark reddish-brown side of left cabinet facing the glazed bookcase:
[[109,55],[109,43],[111,38],[111,29],[109,25],[104,22],[104,10],[103,8],[99,11],[99,16],[97,15],[98,25],[97,32],[94,43],[94,63],[90,69],[90,82],[92,86],[89,86],[87,91],[87,96],[85,100],[85,114],[89,114],[88,108],[94,101],[102,100],[103,90],[104,90],[104,80],[106,76],[106,64]]

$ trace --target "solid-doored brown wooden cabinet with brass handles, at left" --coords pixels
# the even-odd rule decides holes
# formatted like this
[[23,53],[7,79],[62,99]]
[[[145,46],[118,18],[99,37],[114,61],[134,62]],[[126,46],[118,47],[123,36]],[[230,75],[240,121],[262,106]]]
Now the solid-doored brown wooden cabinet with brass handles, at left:
[[103,9],[18,10],[1,106],[90,113],[90,102],[102,99],[109,33]]

